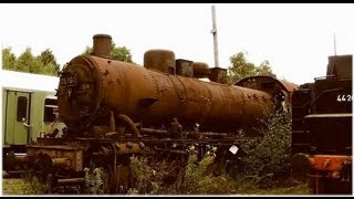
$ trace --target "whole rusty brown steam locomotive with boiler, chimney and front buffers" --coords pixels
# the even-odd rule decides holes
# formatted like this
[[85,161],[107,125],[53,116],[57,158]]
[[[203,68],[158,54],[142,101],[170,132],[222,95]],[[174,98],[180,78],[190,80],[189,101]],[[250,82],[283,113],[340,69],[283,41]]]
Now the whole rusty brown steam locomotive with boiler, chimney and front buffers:
[[167,50],[147,51],[140,66],[110,59],[110,35],[93,39],[92,55],[74,57],[60,74],[58,106],[66,130],[39,137],[24,156],[7,157],[14,163],[8,170],[27,165],[53,188],[84,184],[85,168],[100,167],[110,176],[107,191],[119,192],[132,186],[133,155],[174,157],[183,166],[188,145],[199,144],[199,155],[206,145],[228,150],[239,129],[251,129],[291,100],[289,87],[271,76],[230,85],[226,70],[175,60]]

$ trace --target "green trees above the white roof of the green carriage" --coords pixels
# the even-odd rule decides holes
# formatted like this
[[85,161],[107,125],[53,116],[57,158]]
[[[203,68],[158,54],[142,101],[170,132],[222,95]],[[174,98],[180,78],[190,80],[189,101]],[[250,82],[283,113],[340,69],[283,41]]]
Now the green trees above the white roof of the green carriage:
[[34,74],[58,75],[60,65],[50,49],[43,51],[40,55],[34,56],[31,48],[17,57],[11,48],[2,49],[2,63],[4,70],[20,71]]

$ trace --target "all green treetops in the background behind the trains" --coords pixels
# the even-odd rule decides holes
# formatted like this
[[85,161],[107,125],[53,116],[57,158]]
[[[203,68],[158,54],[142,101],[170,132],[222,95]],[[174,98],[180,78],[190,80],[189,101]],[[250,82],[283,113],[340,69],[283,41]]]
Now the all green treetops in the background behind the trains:
[[[82,54],[88,55],[92,52],[93,49],[86,46]],[[114,60],[134,63],[131,50],[126,46],[117,46],[112,42],[111,52]],[[27,48],[22,54],[15,56],[11,48],[6,48],[2,49],[2,69],[58,76],[61,66],[50,49],[45,49],[39,55],[33,55],[31,48]],[[256,65],[247,60],[246,52],[238,52],[230,56],[230,65],[227,70],[228,83],[235,84],[239,80],[251,75],[271,75],[275,77],[268,60]]]

